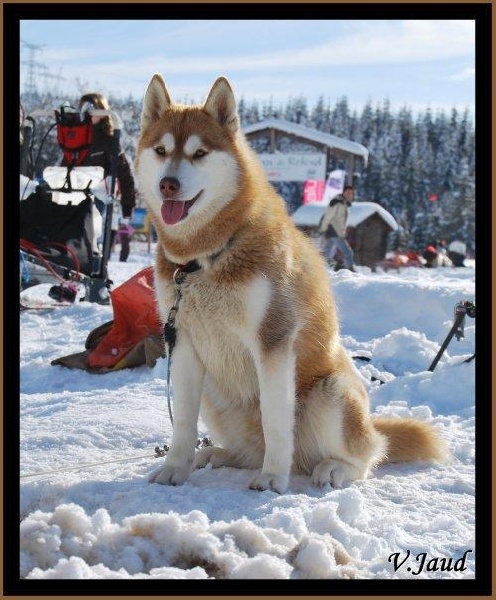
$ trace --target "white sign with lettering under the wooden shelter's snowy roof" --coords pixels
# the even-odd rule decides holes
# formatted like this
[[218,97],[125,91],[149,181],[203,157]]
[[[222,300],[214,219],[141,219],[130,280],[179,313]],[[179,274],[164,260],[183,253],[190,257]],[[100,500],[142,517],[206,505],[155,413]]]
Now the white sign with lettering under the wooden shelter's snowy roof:
[[258,154],[270,181],[325,179],[325,154]]

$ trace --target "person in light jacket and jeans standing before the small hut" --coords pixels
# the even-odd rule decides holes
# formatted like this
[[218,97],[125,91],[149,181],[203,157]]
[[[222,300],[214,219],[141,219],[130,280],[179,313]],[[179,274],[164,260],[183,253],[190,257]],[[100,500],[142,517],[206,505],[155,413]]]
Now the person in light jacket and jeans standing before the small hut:
[[335,196],[322,218],[319,233],[324,236],[326,243],[324,253],[326,258],[332,258],[336,250],[343,255],[343,268],[355,271],[353,266],[353,250],[346,240],[346,223],[348,221],[348,208],[355,196],[352,185],[346,185],[342,194]]

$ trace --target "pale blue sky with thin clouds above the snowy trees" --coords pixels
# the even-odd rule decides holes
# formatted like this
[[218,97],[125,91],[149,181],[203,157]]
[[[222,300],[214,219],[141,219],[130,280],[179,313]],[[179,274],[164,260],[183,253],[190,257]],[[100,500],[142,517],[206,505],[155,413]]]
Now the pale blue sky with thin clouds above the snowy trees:
[[[21,20],[21,40],[43,45],[38,78],[77,94],[136,98],[155,72],[178,101],[203,101],[219,75],[247,101],[284,105],[303,95],[346,96],[360,110],[388,99],[394,109],[475,112],[473,20]],[[29,51],[21,43],[21,61]],[[21,64],[21,89],[26,67]]]

